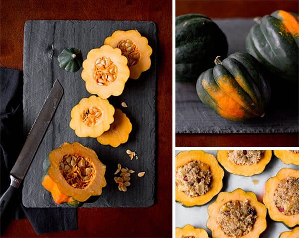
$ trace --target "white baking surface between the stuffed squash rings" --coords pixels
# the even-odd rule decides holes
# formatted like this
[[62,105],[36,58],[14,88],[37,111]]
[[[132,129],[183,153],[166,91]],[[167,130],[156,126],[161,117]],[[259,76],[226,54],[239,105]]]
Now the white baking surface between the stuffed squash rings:
[[[175,155],[177,155],[181,151],[175,151]],[[215,157],[217,156],[217,151],[205,151],[207,153],[213,154]],[[223,178],[223,188],[221,192],[231,192],[236,188],[242,188],[244,191],[252,191],[257,195],[257,198],[260,202],[262,202],[264,186],[266,181],[277,174],[277,172],[281,168],[294,168],[299,169],[299,166],[293,164],[284,164],[280,159],[274,156],[272,152],[272,159],[267,164],[266,169],[261,173],[251,177],[245,177],[240,175],[234,175],[224,170],[224,178]],[[259,180],[258,184],[254,184],[253,180]],[[210,203],[216,200],[215,196],[210,202],[201,206],[201,207],[190,207],[185,208],[181,206],[179,203],[175,204],[175,227],[184,227],[187,224],[192,225],[195,228],[203,228],[205,229],[209,237],[212,237],[211,231],[206,227],[206,223],[208,220],[208,212],[207,207]],[[267,214],[267,229],[260,236],[260,238],[279,238],[280,234],[285,231],[290,231],[283,223],[274,222],[270,219]]]

